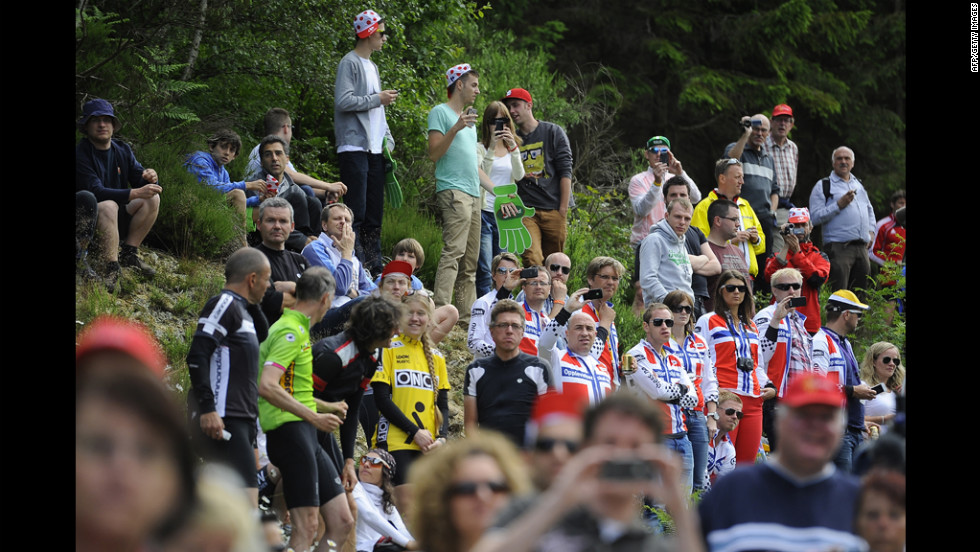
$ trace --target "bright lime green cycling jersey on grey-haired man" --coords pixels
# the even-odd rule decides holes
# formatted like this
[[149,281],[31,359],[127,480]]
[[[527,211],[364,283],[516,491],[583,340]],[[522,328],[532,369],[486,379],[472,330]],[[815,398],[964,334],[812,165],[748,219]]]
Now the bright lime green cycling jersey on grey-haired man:
[[[310,342],[310,317],[292,309],[269,328],[269,337],[259,347],[259,380],[266,369],[281,370],[279,385],[296,400],[316,410],[313,401],[313,344]],[[259,397],[259,423],[262,431],[271,431],[286,422],[302,421],[269,401]]]

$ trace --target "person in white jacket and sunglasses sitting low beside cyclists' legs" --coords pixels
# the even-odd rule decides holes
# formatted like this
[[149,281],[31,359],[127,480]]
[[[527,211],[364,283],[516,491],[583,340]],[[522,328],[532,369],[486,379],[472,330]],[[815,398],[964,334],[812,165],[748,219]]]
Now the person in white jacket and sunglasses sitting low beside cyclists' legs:
[[391,454],[371,449],[361,457],[360,481],[354,485],[357,502],[357,550],[370,552],[379,538],[388,537],[408,550],[417,550],[394,502],[392,477],[398,465]]

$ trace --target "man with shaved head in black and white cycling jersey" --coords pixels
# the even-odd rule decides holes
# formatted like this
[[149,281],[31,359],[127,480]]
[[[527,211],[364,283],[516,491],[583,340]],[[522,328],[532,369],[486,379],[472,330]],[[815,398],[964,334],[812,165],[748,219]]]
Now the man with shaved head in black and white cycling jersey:
[[255,507],[259,343],[269,333],[259,303],[271,272],[269,259],[258,249],[244,247],[228,257],[225,287],[205,303],[187,354],[187,410],[198,451],[233,467]]

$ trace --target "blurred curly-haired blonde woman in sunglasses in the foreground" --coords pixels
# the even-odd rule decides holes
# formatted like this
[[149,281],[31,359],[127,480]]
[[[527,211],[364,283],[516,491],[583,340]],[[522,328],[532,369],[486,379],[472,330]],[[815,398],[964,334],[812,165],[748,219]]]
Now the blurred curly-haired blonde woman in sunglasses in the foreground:
[[510,439],[480,430],[418,461],[412,530],[426,552],[468,552],[511,497],[531,490]]

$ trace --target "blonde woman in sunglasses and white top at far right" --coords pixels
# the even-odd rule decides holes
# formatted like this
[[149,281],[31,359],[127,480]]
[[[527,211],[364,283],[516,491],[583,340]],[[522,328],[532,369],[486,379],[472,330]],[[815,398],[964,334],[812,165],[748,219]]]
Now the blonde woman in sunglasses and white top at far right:
[[865,425],[877,425],[884,433],[887,431],[885,424],[895,417],[895,394],[905,385],[905,366],[898,347],[887,341],[868,347],[861,361],[861,381],[871,387],[881,384],[875,398],[862,402]]

